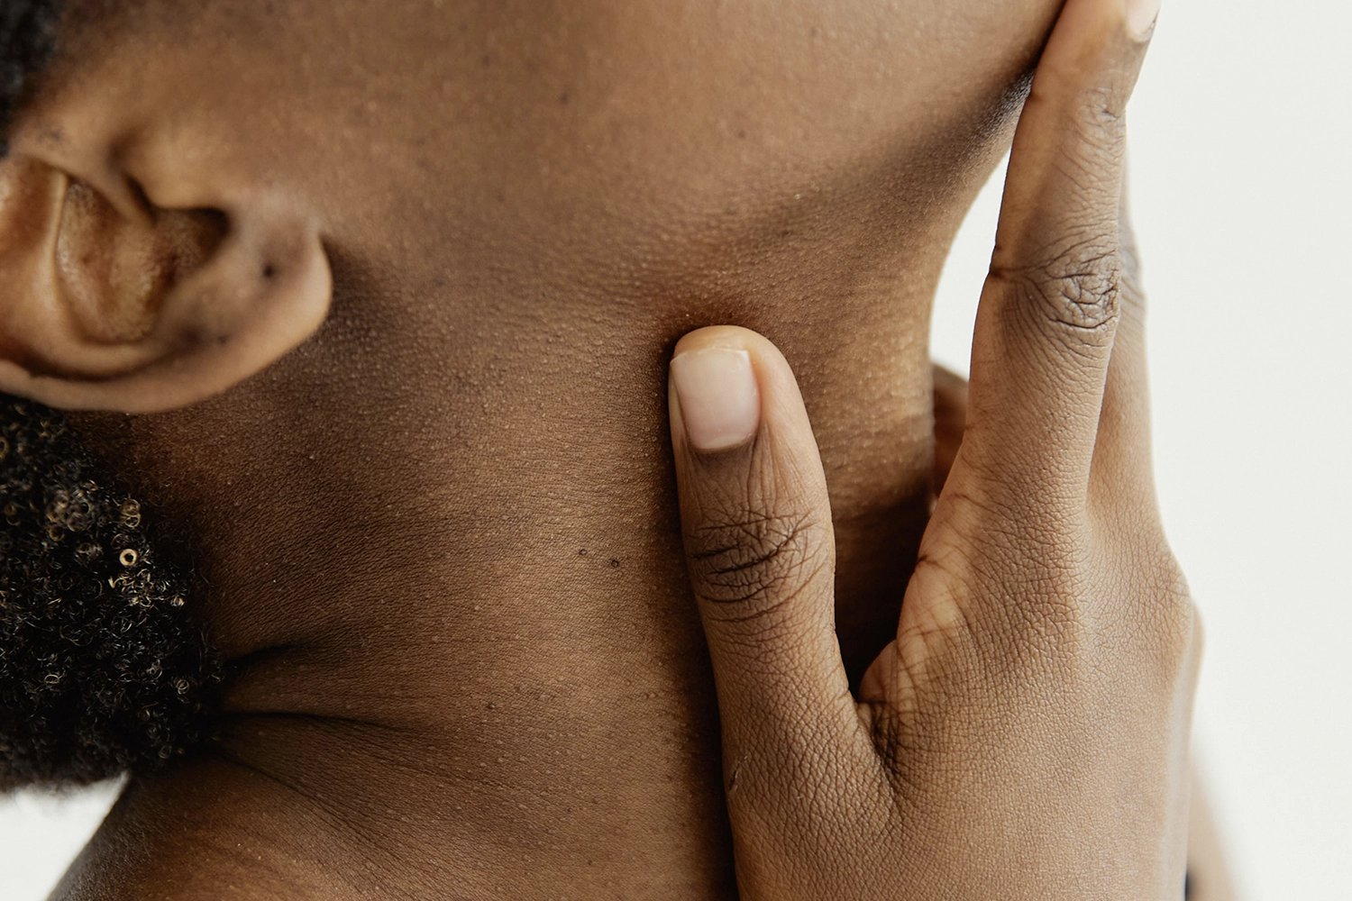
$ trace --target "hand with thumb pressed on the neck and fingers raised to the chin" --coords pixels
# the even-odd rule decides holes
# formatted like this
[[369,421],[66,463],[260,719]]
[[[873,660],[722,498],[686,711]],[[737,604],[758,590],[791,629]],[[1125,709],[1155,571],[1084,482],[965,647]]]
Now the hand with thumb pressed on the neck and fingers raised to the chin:
[[1122,113],[1149,20],[1068,0],[1014,139],[961,448],[856,701],[788,363],[671,365],[744,900],[1179,898],[1199,634],[1153,494]]

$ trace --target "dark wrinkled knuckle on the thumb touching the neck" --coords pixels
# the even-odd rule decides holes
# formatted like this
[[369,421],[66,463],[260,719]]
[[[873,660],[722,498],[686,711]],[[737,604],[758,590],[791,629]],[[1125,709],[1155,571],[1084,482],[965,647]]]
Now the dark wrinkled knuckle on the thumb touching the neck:
[[821,566],[821,525],[808,513],[714,521],[685,543],[696,593],[729,619],[768,612]]

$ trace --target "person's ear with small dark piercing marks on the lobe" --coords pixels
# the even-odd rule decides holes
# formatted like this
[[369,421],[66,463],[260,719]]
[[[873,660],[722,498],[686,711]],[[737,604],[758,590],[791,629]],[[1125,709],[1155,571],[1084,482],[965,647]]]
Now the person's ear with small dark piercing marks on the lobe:
[[153,173],[157,199],[108,159],[18,143],[0,159],[0,390],[158,412],[319,328],[331,278],[314,217],[266,189],[174,207],[210,173]]

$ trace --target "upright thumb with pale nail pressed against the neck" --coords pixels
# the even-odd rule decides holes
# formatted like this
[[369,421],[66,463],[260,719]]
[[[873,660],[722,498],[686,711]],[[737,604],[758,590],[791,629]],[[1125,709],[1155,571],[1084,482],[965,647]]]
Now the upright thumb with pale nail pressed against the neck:
[[857,713],[836,643],[826,477],[798,384],[773,344],[722,326],[680,339],[668,394],[725,767],[748,754],[771,755],[771,770],[823,761],[821,744]]

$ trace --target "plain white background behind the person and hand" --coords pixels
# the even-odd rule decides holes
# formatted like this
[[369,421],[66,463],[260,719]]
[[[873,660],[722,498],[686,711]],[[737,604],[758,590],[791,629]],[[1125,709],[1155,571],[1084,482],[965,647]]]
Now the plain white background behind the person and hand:
[[[1197,744],[1249,901],[1352,898],[1352,4],[1175,0],[1132,105],[1156,454],[1203,605]],[[999,174],[949,261],[965,371]],[[0,901],[38,901],[112,789],[0,801]]]

